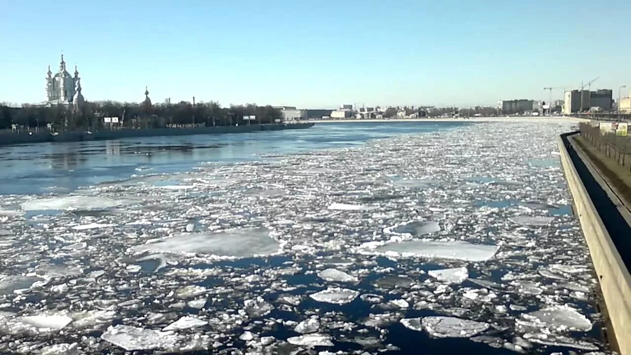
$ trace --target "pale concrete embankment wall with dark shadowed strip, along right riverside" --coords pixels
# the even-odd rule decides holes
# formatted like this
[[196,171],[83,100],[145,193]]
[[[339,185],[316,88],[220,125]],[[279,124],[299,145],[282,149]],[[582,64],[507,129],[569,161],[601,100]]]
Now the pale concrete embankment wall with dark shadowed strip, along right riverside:
[[598,183],[570,144],[572,134],[558,142],[561,163],[613,328],[608,337],[622,355],[631,355],[631,227],[611,202],[608,187]]

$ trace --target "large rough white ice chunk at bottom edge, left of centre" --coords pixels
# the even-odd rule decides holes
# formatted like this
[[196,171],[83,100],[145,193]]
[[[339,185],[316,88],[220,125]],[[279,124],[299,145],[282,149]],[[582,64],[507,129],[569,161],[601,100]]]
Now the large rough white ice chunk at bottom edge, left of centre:
[[160,332],[158,330],[132,327],[130,325],[117,324],[110,326],[101,334],[101,339],[122,347],[126,351],[171,349],[180,339],[173,332]]

